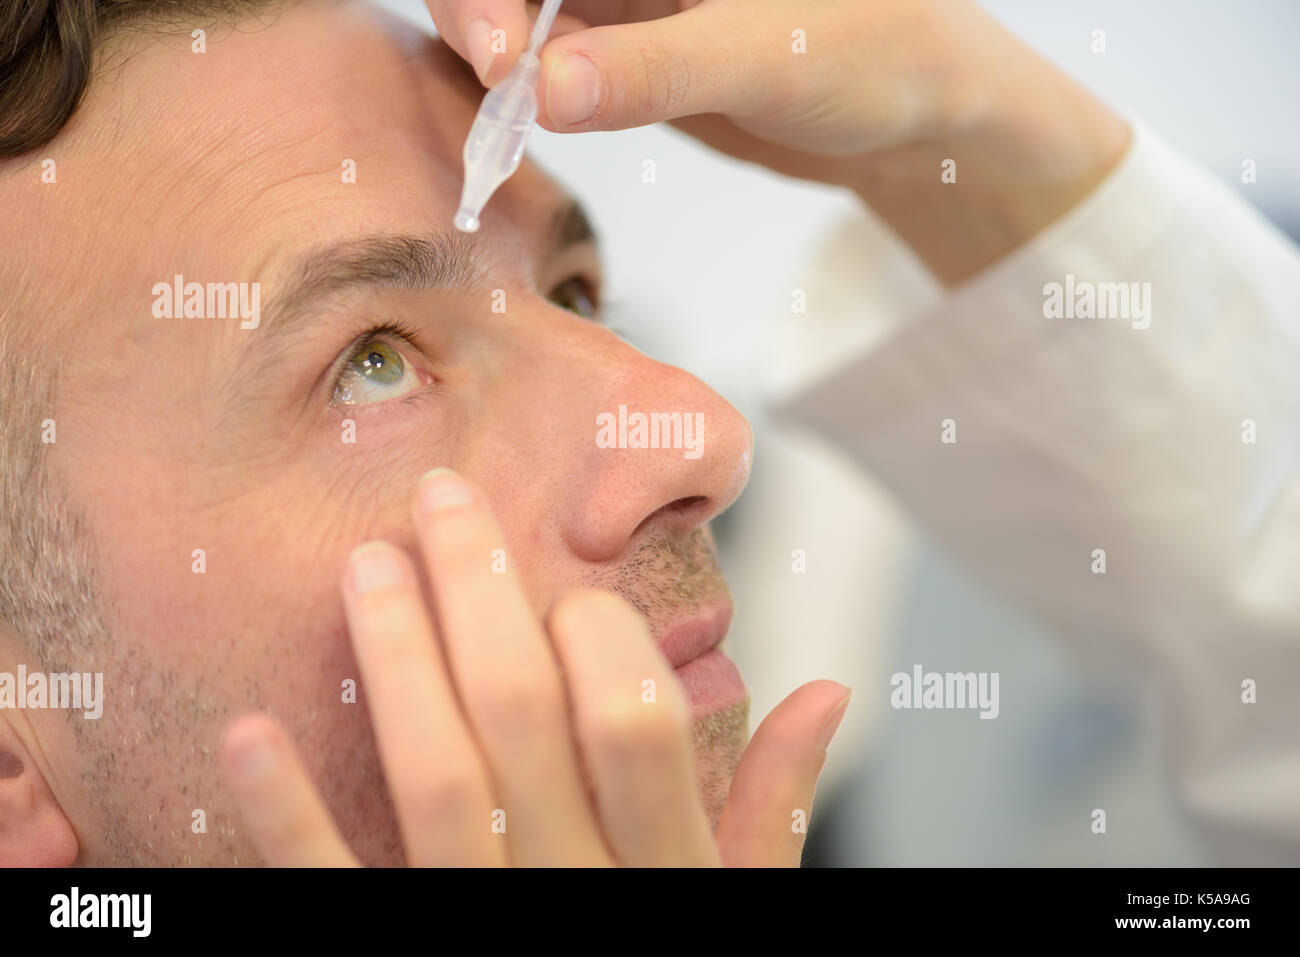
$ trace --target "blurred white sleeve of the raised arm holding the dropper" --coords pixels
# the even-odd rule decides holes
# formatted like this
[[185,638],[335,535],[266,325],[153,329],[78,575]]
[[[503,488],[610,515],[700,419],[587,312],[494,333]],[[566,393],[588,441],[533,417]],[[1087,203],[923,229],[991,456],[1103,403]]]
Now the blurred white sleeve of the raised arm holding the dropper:
[[1087,663],[1141,683],[1221,859],[1300,863],[1300,252],[1284,235],[1138,124],[1080,207],[779,411]]

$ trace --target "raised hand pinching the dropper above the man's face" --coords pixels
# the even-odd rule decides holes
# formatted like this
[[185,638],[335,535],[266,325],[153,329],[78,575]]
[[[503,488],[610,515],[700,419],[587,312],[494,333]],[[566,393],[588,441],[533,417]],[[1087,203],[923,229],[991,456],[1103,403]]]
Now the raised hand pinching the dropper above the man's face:
[[[489,86],[528,46],[524,0],[426,4]],[[660,121],[853,189],[948,283],[1061,217],[1128,143],[1118,116],[972,0],[567,0],[542,48],[538,122]]]

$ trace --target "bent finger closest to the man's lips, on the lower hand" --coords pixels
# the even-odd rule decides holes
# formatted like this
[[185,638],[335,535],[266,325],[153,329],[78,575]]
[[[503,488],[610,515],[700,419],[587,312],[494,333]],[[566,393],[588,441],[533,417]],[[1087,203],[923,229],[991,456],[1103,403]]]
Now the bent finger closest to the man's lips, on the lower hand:
[[645,619],[608,592],[547,616],[606,840],[633,867],[718,865],[696,787],[690,707]]

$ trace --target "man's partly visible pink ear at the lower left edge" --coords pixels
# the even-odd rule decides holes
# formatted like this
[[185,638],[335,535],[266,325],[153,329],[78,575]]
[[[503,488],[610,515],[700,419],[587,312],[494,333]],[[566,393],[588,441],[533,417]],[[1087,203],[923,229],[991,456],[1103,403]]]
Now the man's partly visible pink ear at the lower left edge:
[[78,853],[77,833],[36,762],[0,720],[0,867],[68,867]]

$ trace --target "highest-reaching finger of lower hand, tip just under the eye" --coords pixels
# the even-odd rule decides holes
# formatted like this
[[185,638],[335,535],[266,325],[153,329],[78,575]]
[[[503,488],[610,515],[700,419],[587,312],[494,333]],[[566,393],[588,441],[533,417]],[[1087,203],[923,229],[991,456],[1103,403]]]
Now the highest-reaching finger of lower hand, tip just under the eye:
[[415,523],[438,635],[506,814],[511,861],[608,863],[555,655],[482,494],[436,469],[420,482]]

